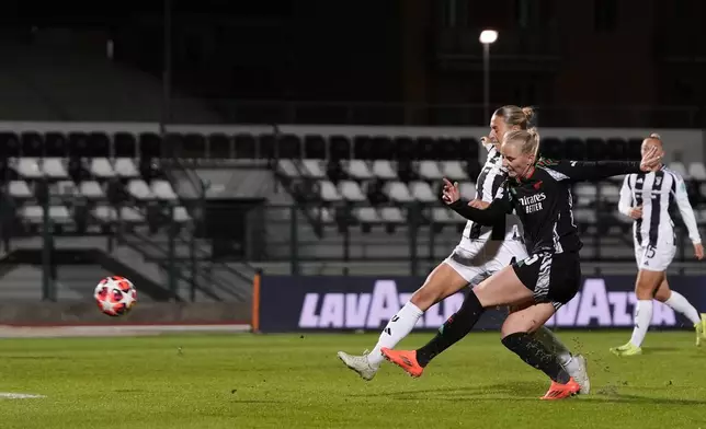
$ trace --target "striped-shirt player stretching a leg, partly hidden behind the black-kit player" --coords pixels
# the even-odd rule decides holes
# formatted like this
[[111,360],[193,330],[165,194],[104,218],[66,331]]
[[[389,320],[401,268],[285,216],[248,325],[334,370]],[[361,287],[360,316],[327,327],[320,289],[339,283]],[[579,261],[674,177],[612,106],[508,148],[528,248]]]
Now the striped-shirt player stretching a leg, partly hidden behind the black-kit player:
[[[532,116],[532,108],[517,106],[503,106],[493,113],[490,136],[482,141],[488,150],[488,158],[476,182],[476,199],[470,202],[472,207],[487,207],[504,184],[506,172],[502,167],[499,143],[506,132],[527,129]],[[469,285],[478,285],[493,273],[511,265],[513,259],[522,260],[526,257],[522,223],[516,216],[509,215],[504,222],[494,227],[468,221],[456,248],[429,275],[410,301],[390,318],[373,351],[362,356],[339,351],[339,358],[364,380],[372,380],[384,360],[380,349],[395,348],[432,305]],[[572,356],[546,327],[537,331],[535,335],[548,348],[560,355],[562,366],[581,385],[581,393],[589,393],[590,381],[585,359],[580,355]]]

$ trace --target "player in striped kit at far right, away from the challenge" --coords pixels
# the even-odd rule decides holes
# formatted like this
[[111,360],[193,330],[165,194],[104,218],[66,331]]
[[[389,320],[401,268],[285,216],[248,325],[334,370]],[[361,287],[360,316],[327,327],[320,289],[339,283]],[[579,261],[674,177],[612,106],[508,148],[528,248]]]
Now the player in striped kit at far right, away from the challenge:
[[[642,153],[657,148],[664,153],[662,139],[652,134],[642,141]],[[618,210],[635,220],[634,241],[637,260],[637,281],[635,294],[635,328],[630,340],[611,351],[617,356],[635,356],[642,352],[642,340],[652,320],[652,297],[684,314],[696,331],[696,345],[706,339],[706,315],[696,309],[681,293],[670,290],[667,282],[667,268],[676,254],[674,222],[669,213],[674,205],[679,207],[682,219],[694,244],[696,258],[704,257],[694,210],[688,202],[684,179],[679,173],[662,165],[650,173],[628,174],[623,182]]]

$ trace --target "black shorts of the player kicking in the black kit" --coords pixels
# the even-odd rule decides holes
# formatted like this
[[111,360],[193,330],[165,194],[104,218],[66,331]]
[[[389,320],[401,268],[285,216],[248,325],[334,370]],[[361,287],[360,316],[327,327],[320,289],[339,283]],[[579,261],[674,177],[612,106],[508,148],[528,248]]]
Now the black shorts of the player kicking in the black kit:
[[517,278],[534,292],[535,302],[551,302],[556,310],[577,294],[581,286],[579,254],[535,253],[512,264]]

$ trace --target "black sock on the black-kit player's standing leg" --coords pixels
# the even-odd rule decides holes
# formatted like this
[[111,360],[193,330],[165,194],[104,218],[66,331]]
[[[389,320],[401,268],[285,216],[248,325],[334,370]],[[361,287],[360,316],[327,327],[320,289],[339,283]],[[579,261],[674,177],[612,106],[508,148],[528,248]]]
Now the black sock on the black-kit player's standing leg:
[[527,364],[549,375],[557,383],[569,382],[569,374],[559,363],[557,355],[550,352],[534,335],[527,333],[510,334],[502,339],[502,344],[514,351]]

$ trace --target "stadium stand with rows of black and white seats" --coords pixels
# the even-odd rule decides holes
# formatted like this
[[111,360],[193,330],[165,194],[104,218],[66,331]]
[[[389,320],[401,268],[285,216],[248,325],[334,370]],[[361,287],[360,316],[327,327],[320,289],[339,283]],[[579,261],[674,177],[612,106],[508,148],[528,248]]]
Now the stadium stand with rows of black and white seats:
[[[112,131],[86,127],[0,132],[0,176],[15,207],[13,241],[37,234],[44,216],[41,201],[48,198],[46,215],[56,235],[118,234],[116,250],[104,254],[119,259],[115,269],[151,279],[156,299],[169,294],[163,273],[175,269],[170,260],[179,267],[180,299],[189,299],[196,277],[200,300],[246,300],[253,265],[272,274],[289,274],[297,265],[301,274],[348,269],[394,275],[409,274],[415,260],[421,273],[446,256],[465,223],[440,204],[441,177],[458,181],[464,196],[472,198],[485,159],[478,141],[469,137],[297,135],[280,134],[276,127],[171,127],[160,136],[129,126]],[[543,154],[638,159],[639,143],[547,138]],[[704,164],[670,166],[687,179],[703,224]],[[206,176],[221,183],[206,188]],[[266,189],[252,190],[267,181]],[[615,209],[619,181],[577,184],[576,218],[584,232],[587,260],[619,262],[631,269],[630,222]],[[278,185],[286,193],[276,192]],[[261,248],[246,253],[251,263],[214,263],[212,243],[197,236],[190,198],[216,187],[221,193],[235,189],[226,198],[259,195],[270,201],[263,233],[250,241]],[[174,257],[169,253],[170,229],[175,231]],[[194,253],[195,276],[185,263]]]

